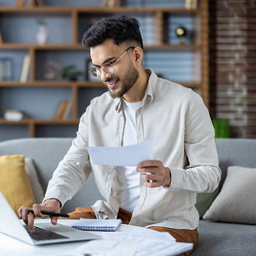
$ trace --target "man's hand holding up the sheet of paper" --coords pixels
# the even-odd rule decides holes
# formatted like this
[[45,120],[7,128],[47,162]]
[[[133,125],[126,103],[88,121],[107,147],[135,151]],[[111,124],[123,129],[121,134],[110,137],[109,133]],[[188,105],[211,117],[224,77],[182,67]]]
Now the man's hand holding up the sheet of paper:
[[142,178],[147,187],[169,187],[171,183],[171,172],[161,161],[151,160],[140,162],[137,172],[142,172]]

